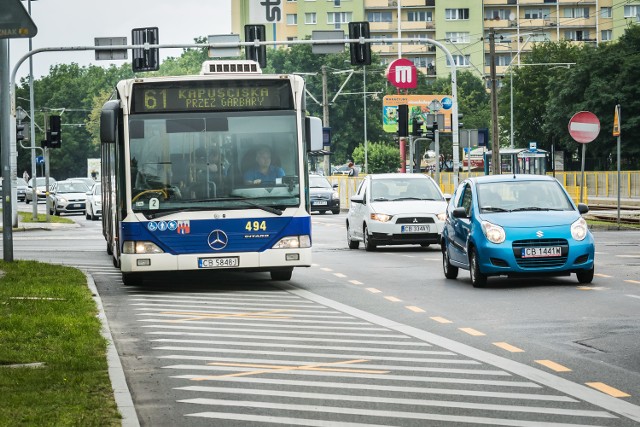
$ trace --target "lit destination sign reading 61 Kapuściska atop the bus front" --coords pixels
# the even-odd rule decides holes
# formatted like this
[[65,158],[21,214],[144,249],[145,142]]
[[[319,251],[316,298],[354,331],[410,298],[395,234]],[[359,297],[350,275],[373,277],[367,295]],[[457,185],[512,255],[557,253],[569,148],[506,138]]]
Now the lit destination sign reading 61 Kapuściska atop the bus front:
[[138,83],[132,113],[293,109],[288,80]]

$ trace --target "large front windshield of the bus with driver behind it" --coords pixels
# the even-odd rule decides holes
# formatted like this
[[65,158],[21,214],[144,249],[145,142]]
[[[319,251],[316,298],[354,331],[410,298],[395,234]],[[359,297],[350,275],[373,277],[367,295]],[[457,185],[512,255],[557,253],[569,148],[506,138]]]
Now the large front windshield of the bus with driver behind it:
[[294,111],[133,114],[128,125],[134,212],[300,205]]

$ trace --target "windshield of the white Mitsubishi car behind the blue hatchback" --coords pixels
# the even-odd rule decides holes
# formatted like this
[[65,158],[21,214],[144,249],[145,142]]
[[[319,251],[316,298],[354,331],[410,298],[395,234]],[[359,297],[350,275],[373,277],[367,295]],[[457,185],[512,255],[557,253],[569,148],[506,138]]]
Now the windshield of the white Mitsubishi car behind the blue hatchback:
[[427,177],[374,179],[371,185],[372,200],[444,200],[435,183]]

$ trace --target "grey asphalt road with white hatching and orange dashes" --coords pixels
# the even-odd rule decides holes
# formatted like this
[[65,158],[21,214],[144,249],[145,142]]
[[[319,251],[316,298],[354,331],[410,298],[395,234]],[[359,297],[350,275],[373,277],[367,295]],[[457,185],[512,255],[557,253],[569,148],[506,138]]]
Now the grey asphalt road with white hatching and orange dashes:
[[14,234],[89,271],[142,425],[640,423],[640,233],[596,231],[596,277],[446,280],[435,247],[347,249],[314,215],[314,266],[122,286],[99,222]]

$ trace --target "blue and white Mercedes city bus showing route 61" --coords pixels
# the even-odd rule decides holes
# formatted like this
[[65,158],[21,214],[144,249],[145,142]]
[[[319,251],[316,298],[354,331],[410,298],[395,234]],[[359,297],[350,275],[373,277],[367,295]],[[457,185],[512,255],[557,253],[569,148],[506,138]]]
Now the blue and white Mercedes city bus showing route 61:
[[304,80],[253,61],[117,84],[100,119],[103,234],[125,285],[152,272],[311,265]]

